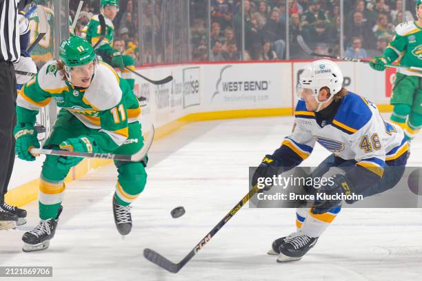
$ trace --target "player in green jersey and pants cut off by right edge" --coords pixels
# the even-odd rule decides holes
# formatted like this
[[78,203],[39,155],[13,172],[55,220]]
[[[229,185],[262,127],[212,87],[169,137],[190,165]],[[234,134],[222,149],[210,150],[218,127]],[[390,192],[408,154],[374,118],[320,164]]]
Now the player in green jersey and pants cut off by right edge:
[[[422,67],[422,0],[416,1],[417,21],[401,23],[396,34],[382,56],[370,62],[374,70],[383,71],[385,65],[398,60],[399,65]],[[422,127],[422,73],[400,69],[396,74],[391,121],[405,130],[412,140]]]

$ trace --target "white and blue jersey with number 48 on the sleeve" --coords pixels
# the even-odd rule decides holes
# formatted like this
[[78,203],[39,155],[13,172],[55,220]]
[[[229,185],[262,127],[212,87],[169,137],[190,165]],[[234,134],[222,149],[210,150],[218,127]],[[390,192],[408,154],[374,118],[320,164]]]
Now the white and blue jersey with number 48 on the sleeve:
[[382,177],[386,161],[408,151],[403,130],[384,121],[376,105],[351,92],[344,96],[332,122],[322,127],[304,101],[299,101],[294,116],[294,131],[283,145],[300,160],[308,158],[318,142],[335,156],[356,160],[356,165]]

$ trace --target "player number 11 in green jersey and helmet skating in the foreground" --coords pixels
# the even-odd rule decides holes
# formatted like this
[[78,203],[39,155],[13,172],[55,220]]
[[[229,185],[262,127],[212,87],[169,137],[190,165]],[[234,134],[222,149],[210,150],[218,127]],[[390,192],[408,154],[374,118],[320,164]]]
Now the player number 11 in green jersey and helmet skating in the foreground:
[[[54,99],[61,110],[43,145],[48,149],[74,152],[134,154],[143,146],[141,109],[128,83],[106,63],[99,63],[94,49],[81,37],[61,42],[58,61],[44,65],[23,86],[17,98],[14,128],[16,154],[34,160],[28,149],[39,147],[34,129],[39,109]],[[39,186],[41,221],[23,234],[23,251],[46,249],[54,236],[66,186],[63,180],[81,158],[46,156]],[[118,179],[112,207],[121,235],[132,228],[130,204],[145,187],[146,163],[114,161]]]

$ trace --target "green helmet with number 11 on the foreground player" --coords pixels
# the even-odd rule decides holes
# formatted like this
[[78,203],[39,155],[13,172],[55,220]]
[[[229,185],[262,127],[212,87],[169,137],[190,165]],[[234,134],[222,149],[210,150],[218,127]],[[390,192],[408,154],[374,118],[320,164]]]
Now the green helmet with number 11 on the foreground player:
[[67,67],[85,65],[97,57],[90,43],[79,36],[62,41],[59,56]]

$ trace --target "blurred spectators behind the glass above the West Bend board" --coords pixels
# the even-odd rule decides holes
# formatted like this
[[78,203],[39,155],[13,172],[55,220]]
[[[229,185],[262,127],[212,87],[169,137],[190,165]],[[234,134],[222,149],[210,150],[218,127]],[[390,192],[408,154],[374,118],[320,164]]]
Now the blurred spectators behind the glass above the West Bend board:
[[[382,54],[394,36],[396,25],[414,20],[416,2],[406,1],[403,17],[403,1],[405,0],[343,1],[345,54],[355,58]],[[207,1],[195,2],[197,4],[193,5],[193,14],[197,17],[191,19],[194,61],[230,61],[238,57],[257,61],[285,59],[287,40],[290,43],[290,59],[303,59],[305,54],[296,40],[299,34],[317,52],[340,54],[339,0],[244,0],[243,19],[240,0],[211,0],[210,42],[207,33],[208,14],[204,9]],[[289,28],[288,39],[286,25]],[[242,28],[245,30],[243,54]]]

